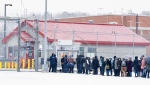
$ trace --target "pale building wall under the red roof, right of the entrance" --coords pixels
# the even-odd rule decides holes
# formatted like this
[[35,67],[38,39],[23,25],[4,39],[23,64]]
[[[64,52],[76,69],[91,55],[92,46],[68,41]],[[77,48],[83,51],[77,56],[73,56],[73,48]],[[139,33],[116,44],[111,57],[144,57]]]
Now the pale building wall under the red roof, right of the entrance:
[[[84,55],[87,56],[87,49],[88,45],[83,45],[84,48]],[[92,45],[91,47],[95,47],[95,45]],[[95,53],[94,53],[95,54]],[[146,47],[145,46],[127,46],[127,45],[118,45],[116,46],[116,56],[123,57],[125,55],[129,55],[131,57],[146,55]],[[113,45],[99,45],[98,46],[98,57],[104,56],[104,57],[113,57],[115,56],[115,46]]]

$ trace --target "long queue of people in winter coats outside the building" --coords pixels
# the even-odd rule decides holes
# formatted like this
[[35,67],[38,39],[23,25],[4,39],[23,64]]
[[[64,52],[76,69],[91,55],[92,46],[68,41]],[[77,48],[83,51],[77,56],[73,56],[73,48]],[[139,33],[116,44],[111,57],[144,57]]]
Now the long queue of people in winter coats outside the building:
[[[55,54],[52,54],[49,58],[50,69],[52,72],[57,70],[57,58]],[[121,77],[132,77],[132,73],[135,73],[135,77],[144,77],[149,78],[150,65],[146,64],[144,55],[138,58],[135,56],[135,59],[132,61],[131,58],[119,58],[114,56],[113,58],[104,58],[100,56],[99,59],[97,56],[93,57],[84,57],[84,55],[77,55],[77,58],[74,59],[73,55],[67,56],[62,55],[61,58],[61,72],[63,73],[74,73],[74,67],[77,66],[78,74],[91,74],[105,76],[121,76]],[[100,72],[98,72],[98,69]]]

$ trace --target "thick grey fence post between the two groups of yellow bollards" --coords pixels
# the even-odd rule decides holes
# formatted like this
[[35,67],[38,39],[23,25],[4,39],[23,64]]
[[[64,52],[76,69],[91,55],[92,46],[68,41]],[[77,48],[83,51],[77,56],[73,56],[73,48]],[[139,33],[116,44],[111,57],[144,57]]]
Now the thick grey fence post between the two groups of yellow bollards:
[[18,20],[18,59],[17,59],[17,72],[20,72],[20,56],[21,56],[21,53],[20,53],[20,49],[21,49],[21,46],[20,46],[20,38],[21,38],[21,27],[20,27],[20,20]]

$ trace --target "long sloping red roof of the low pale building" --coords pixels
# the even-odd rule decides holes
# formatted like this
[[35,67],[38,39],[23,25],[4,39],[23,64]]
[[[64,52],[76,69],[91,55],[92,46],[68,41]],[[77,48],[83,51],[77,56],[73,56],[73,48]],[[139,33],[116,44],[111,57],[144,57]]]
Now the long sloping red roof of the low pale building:
[[[26,21],[29,27],[32,27],[33,20]],[[117,45],[149,45],[149,41],[143,37],[136,35],[133,31],[121,25],[110,25],[110,24],[89,24],[89,23],[68,23],[68,22],[53,22],[48,21],[47,23],[47,36],[48,41],[54,41],[54,29],[56,28],[56,40],[73,39],[74,30],[74,40],[75,42],[80,42],[82,44],[107,44],[114,45],[115,41]],[[98,36],[97,33],[98,32]],[[113,33],[115,32],[115,33]],[[10,33],[11,34],[11,33]],[[44,21],[39,21],[39,34],[44,35]],[[134,34],[134,38],[133,38]],[[116,37],[115,37],[116,35]],[[98,37],[98,38],[97,38]],[[8,36],[6,36],[8,38]],[[4,38],[3,41],[7,41]],[[115,40],[116,38],[116,40]]]

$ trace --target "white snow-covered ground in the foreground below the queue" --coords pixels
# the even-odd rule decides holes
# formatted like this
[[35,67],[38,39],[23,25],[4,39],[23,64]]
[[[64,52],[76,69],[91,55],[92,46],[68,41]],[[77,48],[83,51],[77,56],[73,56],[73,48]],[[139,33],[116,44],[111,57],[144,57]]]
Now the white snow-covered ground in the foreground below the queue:
[[100,75],[0,71],[0,85],[143,85],[150,79]]

